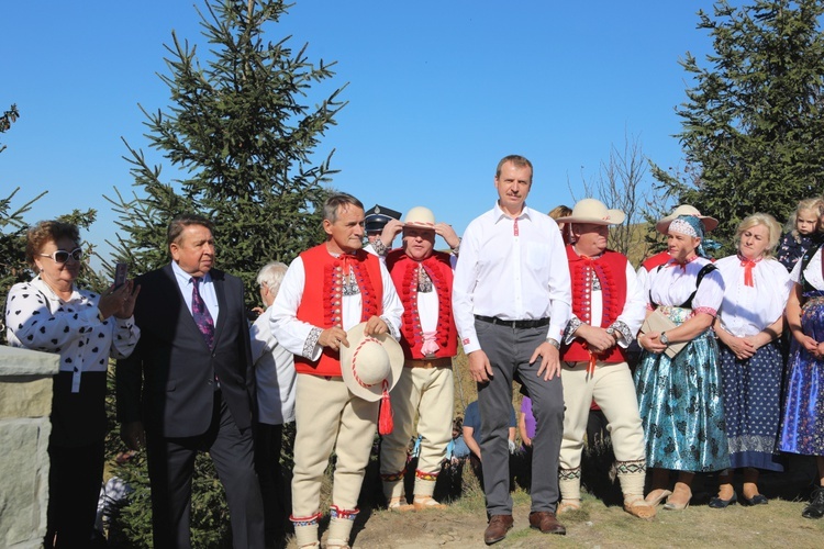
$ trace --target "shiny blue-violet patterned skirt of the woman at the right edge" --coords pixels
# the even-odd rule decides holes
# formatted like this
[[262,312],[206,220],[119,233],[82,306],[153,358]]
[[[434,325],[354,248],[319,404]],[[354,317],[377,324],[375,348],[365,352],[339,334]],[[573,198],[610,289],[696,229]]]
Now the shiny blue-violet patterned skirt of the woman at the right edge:
[[[816,341],[824,341],[824,298],[804,303],[801,328]],[[784,394],[779,449],[824,456],[824,360],[816,360],[794,337]]]

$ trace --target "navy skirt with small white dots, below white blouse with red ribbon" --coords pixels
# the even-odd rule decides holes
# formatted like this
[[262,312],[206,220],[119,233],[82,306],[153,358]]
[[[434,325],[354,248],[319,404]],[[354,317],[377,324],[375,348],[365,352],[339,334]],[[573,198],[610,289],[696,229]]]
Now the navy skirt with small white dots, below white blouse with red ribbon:
[[724,382],[724,421],[732,467],[783,471],[778,451],[783,357],[780,340],[771,341],[747,360],[720,346]]

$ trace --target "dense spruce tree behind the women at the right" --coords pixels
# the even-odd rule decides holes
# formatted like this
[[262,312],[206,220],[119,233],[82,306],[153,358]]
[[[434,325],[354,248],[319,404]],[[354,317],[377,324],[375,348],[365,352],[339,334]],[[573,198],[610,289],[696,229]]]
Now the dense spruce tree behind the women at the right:
[[694,79],[677,135],[683,177],[653,168],[678,203],[721,222],[712,237],[731,253],[735,227],[750,213],[786,220],[824,181],[824,36],[821,0],[756,0],[699,11],[714,53],[701,66],[681,61]]

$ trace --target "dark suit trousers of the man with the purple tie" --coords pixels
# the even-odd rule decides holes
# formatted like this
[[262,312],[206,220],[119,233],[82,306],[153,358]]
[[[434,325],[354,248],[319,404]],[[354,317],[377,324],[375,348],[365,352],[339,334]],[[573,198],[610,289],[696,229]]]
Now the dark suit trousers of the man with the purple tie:
[[212,423],[203,435],[166,438],[146,433],[156,549],[191,547],[191,482],[199,451],[209,452],[226,491],[233,546],[264,547],[264,512],[252,429],[238,429],[221,392],[214,394]]

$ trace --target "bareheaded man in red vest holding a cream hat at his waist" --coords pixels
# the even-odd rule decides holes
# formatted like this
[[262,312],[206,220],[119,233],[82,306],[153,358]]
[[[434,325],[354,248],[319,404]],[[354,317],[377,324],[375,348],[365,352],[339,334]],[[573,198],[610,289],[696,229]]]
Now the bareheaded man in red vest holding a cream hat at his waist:
[[[339,549],[348,547],[358,513],[379,394],[391,389],[391,383],[382,388],[380,382],[363,383],[354,368],[349,371],[355,365],[353,355],[358,355],[353,352],[357,343],[347,338],[347,332],[352,335],[354,327],[365,323],[366,338],[359,339],[386,340],[387,334],[398,339],[403,306],[386,267],[361,249],[364,205],[359,200],[344,193],[330,197],[323,206],[323,228],[326,242],[289,266],[271,318],[275,337],[294,354],[298,371],[290,517],[294,537],[298,547],[320,547],[321,483],[334,450],[337,461],[326,547]],[[401,356],[399,347],[398,371]],[[363,388],[348,384],[353,372]],[[369,390],[378,391],[378,400],[368,397]]]

